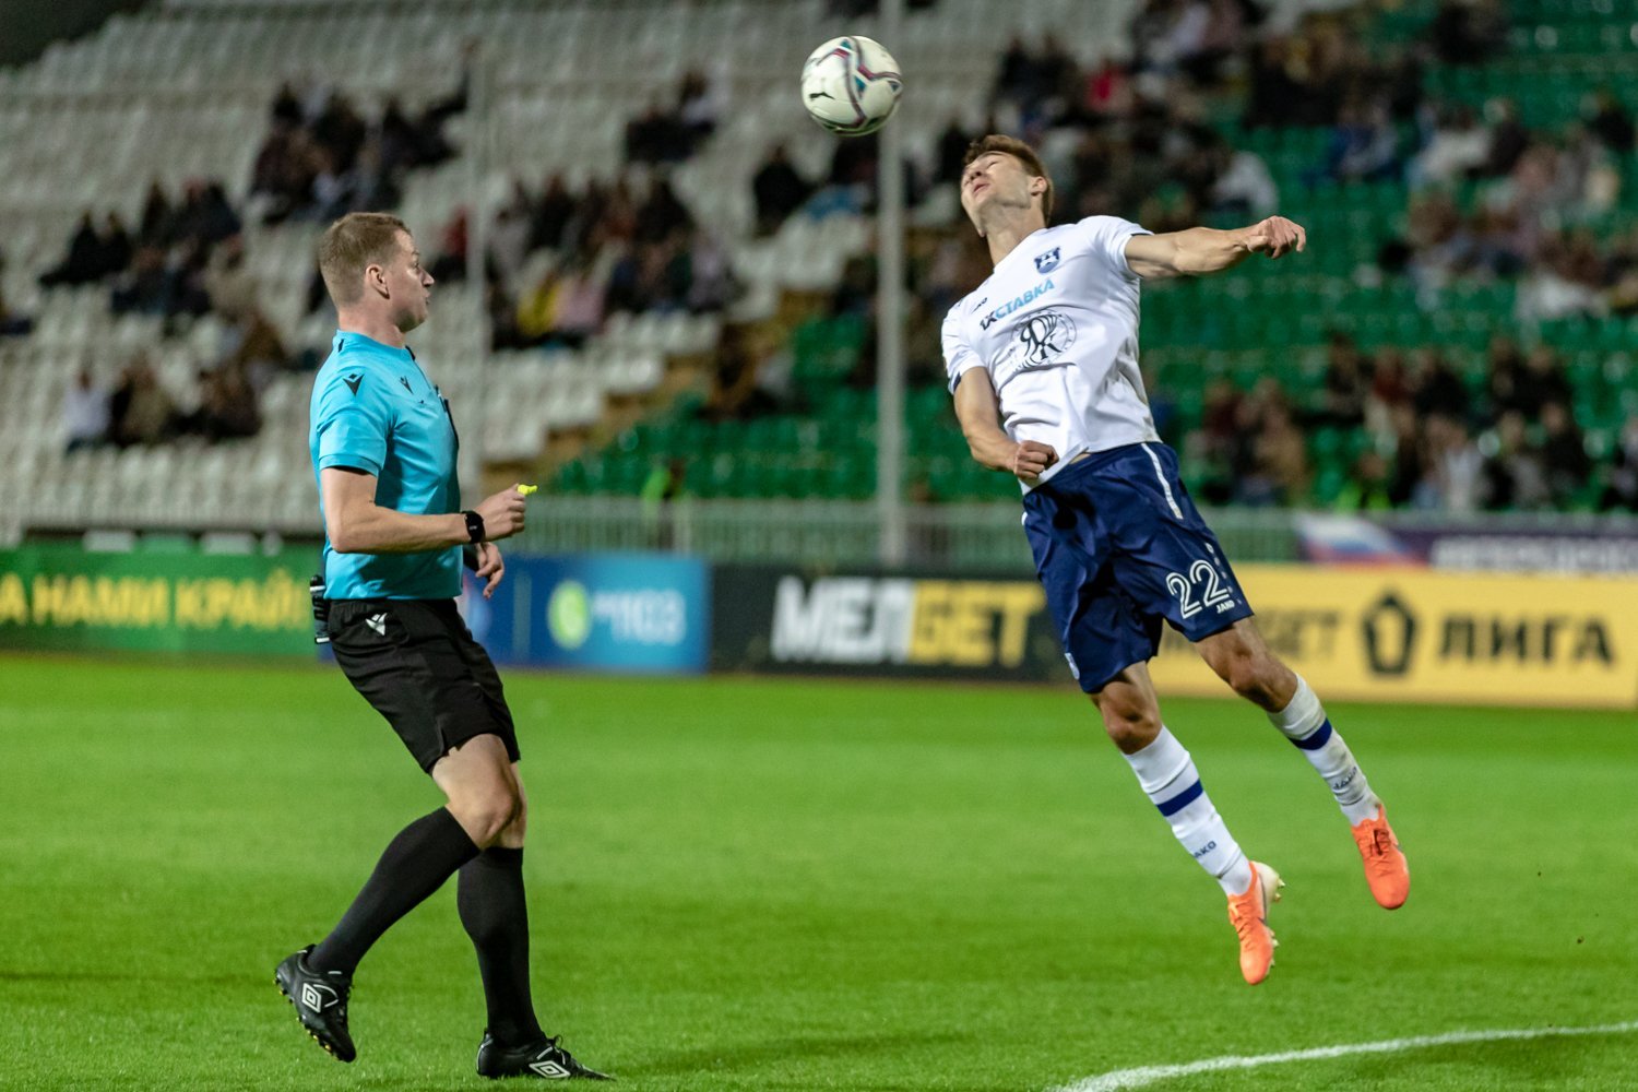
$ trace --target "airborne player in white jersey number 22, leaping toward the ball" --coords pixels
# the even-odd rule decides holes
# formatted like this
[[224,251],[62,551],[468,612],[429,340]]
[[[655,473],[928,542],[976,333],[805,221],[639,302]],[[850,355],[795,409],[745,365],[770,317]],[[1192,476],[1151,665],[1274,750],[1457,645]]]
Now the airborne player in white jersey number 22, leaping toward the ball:
[[1371,791],[1309,684],[1251,620],[1217,537],[1160,442],[1137,362],[1143,280],[1279,259],[1307,236],[1281,216],[1152,234],[1114,216],[1047,228],[1052,178],[1035,152],[986,136],[966,152],[962,208],[994,273],[943,321],[955,411],[980,463],[1024,488],[1024,530],[1070,671],[1183,848],[1228,896],[1240,971],[1274,963],[1269,902],[1283,886],[1247,858],[1166,729],[1148,675],[1161,622],[1179,629],[1237,694],[1256,702],[1325,779],[1353,827],[1376,900],[1404,904],[1410,873]]

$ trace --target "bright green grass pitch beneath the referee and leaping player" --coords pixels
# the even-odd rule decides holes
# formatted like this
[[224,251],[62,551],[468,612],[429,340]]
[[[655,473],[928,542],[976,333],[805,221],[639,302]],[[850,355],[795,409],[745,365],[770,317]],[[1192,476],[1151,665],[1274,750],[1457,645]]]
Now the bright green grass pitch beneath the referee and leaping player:
[[[1215,884],[1070,688],[508,676],[534,989],[639,1090],[1042,1090],[1133,1066],[1638,1018],[1631,714],[1332,707],[1412,863],[1366,892],[1307,763],[1170,701],[1279,868],[1240,982]],[[0,658],[0,1089],[493,1087],[454,884],[364,961],[359,1061],[272,984],[437,805],[334,670]],[[1628,1033],[1160,1089],[1638,1087]]]

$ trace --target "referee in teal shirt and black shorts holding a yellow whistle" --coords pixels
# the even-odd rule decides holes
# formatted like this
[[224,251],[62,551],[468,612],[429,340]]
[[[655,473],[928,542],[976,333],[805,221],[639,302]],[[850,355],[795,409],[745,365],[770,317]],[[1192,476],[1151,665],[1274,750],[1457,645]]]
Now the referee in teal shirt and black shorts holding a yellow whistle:
[[308,432],[324,516],[326,630],[347,681],[447,804],[388,843],[341,923],[280,963],[275,981],[308,1033],[352,1061],[354,969],[393,922],[459,873],[455,905],[488,1007],[478,1074],[606,1079],[534,1015],[518,735],[495,665],[455,611],[464,550],[485,596],[505,576],[495,542],[523,530],[523,493],[460,509],[449,403],[405,347],[405,334],[426,321],[432,277],[403,221],[342,216],[324,232],[318,264],[339,318],[313,381]]

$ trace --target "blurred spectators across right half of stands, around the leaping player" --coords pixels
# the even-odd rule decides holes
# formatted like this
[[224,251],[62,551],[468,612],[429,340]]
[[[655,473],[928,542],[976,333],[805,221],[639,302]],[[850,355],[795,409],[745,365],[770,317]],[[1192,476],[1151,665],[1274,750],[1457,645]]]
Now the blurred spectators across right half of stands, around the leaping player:
[[[1206,95],[1238,79],[1242,129],[1328,129],[1301,180],[1309,190],[1405,187],[1404,232],[1384,229],[1373,275],[1410,275],[1425,306],[1438,306],[1438,291],[1456,278],[1518,278],[1517,313],[1499,327],[1527,342],[1543,319],[1638,309],[1638,231],[1599,239],[1586,228],[1615,206],[1617,160],[1633,151],[1633,121],[1613,93],[1589,95],[1581,121],[1563,133],[1527,129],[1505,98],[1479,113],[1423,97],[1428,65],[1481,64],[1505,47],[1504,5],[1446,0],[1420,44],[1394,49],[1368,44],[1350,15],[1309,18],[1289,33],[1265,33],[1265,15],[1253,0],[1150,0],[1132,25],[1132,59],[1096,67],[1079,65],[1050,34],[1014,39],[983,131],[1017,133],[1040,149],[1053,174],[1055,223],[1106,213],[1155,231],[1251,223],[1281,208],[1279,188],[1268,164],[1207,124],[1204,110]],[[958,177],[975,136],[952,121],[930,169],[907,188],[912,201]],[[753,178],[758,231],[822,214],[835,205],[827,193],[848,183],[860,192],[855,205],[868,208],[873,146],[848,141],[839,157],[844,149],[850,160],[816,180],[773,149]],[[960,219],[948,232],[912,236],[907,254],[911,381],[937,383],[939,321],[988,275],[988,255]],[[827,313],[870,323],[873,300],[873,260],[862,257]],[[855,385],[875,381],[871,345],[867,334]],[[1170,411],[1165,383],[1152,391],[1156,417]],[[1595,472],[1572,401],[1550,345],[1499,336],[1479,383],[1441,347],[1368,355],[1337,334],[1320,391],[1287,391],[1271,377],[1251,390],[1222,380],[1206,395],[1201,427],[1173,439],[1204,499],[1217,504],[1638,509],[1638,416]],[[1324,480],[1317,445],[1342,449],[1345,480]]]

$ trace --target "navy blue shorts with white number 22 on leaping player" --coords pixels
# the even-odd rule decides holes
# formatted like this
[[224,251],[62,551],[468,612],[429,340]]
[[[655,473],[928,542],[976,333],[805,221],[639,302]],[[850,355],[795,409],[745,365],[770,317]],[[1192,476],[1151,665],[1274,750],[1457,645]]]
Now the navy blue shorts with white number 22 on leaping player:
[[1153,658],[1161,620],[1201,640],[1251,617],[1165,444],[1070,463],[1024,496],[1024,532],[1070,671],[1088,694]]

